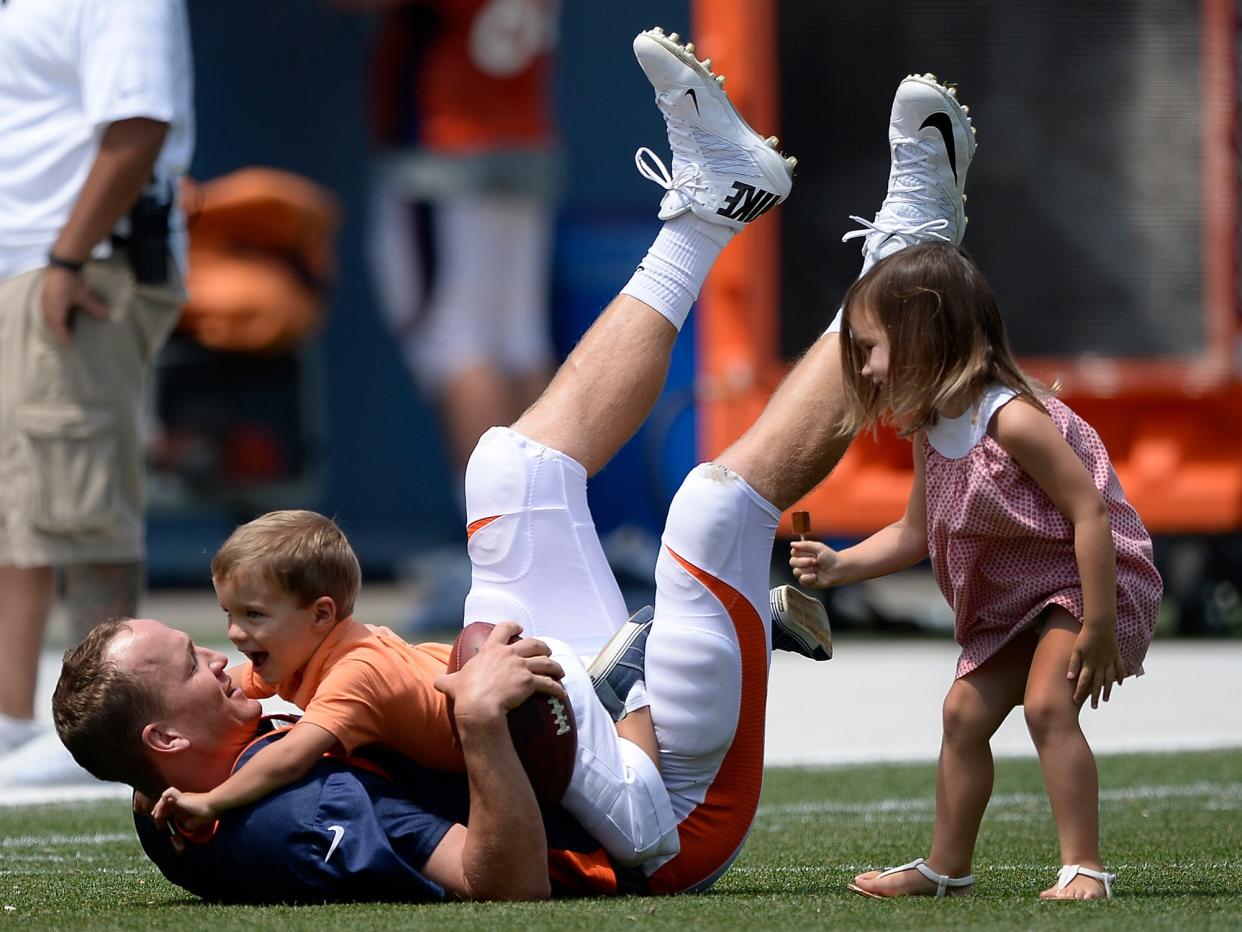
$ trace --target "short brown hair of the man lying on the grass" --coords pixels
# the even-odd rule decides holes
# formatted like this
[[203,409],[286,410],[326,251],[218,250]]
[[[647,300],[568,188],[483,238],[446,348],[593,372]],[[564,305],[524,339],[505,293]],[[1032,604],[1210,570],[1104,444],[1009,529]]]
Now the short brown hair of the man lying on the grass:
[[127,783],[149,797],[168,787],[143,742],[143,729],[164,712],[158,691],[123,674],[108,649],[128,619],[104,621],[65,652],[52,693],[52,721],[73,759],[101,780]]

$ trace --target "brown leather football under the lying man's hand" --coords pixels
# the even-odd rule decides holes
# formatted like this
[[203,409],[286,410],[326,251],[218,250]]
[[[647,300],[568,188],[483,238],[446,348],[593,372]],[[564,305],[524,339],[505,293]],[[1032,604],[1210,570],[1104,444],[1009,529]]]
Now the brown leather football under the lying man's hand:
[[[496,625],[487,621],[472,621],[462,629],[448,655],[450,674],[461,670],[478,654],[493,628]],[[509,644],[515,640],[519,635],[509,639]],[[448,701],[448,721],[456,737],[452,700]],[[556,805],[569,789],[569,778],[574,775],[578,754],[574,710],[554,696],[537,692],[509,712],[509,736],[539,804]]]

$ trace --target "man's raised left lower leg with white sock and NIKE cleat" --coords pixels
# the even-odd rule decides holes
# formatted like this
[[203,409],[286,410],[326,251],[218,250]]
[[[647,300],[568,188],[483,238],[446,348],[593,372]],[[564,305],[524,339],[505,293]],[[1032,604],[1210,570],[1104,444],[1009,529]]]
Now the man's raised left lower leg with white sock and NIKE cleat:
[[[646,419],[712,262],[737,231],[789,195],[796,165],[775,152],[774,138],[746,126],[723,77],[694,57],[693,46],[652,30],[633,48],[668,129],[671,167],[650,149],[637,155],[640,171],[666,190],[660,219],[667,222],[622,295],[514,425],[573,456],[587,475]],[[743,191],[750,200],[743,203]]]

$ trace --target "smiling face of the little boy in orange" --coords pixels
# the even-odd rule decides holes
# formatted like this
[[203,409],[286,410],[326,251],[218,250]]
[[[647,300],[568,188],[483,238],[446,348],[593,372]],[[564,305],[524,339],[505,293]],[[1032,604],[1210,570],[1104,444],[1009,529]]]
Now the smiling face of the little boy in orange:
[[324,621],[324,599],[302,606],[260,573],[233,573],[211,582],[229,619],[229,640],[272,686],[301,674],[332,629]]

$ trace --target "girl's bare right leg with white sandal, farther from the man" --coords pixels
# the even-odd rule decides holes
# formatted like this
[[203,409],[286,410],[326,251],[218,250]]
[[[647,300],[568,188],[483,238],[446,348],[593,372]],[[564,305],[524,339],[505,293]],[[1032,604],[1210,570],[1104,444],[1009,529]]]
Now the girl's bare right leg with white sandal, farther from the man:
[[[1064,609],[1048,613],[1026,687],[1026,727],[1040,753],[1043,783],[1057,820],[1061,862],[1103,870],[1099,856],[1099,777],[1095,756],[1078,723],[1082,706],[1073,701],[1074,685],[1066,678],[1069,655],[1081,625]],[[1049,898],[1090,900],[1104,896],[1104,885],[1078,875]]]

